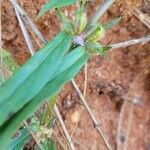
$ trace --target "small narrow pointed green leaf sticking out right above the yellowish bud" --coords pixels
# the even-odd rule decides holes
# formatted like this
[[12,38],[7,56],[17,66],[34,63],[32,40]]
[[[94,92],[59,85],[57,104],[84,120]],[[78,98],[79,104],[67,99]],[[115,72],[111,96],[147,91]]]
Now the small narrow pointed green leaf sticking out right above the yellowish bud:
[[118,18],[115,18],[113,20],[110,20],[109,22],[107,22],[106,24],[104,24],[104,26],[103,26],[104,29],[108,30],[108,29],[112,28],[113,26],[117,25],[120,22],[121,18],[122,17],[118,17]]

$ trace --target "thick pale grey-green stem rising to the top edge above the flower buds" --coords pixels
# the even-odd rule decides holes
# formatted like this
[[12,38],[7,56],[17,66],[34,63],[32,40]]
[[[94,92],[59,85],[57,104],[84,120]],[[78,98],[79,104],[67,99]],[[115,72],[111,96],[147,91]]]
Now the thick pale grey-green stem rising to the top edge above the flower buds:
[[89,21],[85,32],[89,31],[94,24],[98,22],[100,17],[109,9],[109,7],[115,2],[115,0],[105,0],[102,5],[99,6],[97,11],[92,16],[91,20]]

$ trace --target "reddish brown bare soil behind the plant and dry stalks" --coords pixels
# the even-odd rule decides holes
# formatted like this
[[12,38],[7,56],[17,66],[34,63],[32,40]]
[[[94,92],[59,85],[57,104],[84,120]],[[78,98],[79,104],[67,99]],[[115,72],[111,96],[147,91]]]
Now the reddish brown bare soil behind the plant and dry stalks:
[[[22,0],[21,5],[35,20],[44,0],[33,2]],[[126,3],[130,2],[130,3]],[[121,16],[119,25],[107,32],[102,40],[105,44],[116,43],[150,34],[150,30],[132,14],[132,7],[139,6],[139,1],[118,0],[101,19],[106,22]],[[101,1],[94,1],[89,7],[90,14],[94,12]],[[23,64],[29,57],[22,32],[15,13],[8,1],[2,4],[2,36],[3,45],[12,52],[16,60]],[[69,10],[72,10],[69,9]],[[72,13],[69,13],[72,15]],[[59,22],[55,15],[45,14],[36,22],[38,28],[47,39],[51,39],[59,31]],[[35,45],[35,43],[34,43]],[[38,49],[37,46],[35,46]],[[126,124],[128,124],[129,109],[134,98],[140,98],[142,103],[133,106],[133,115],[128,138],[129,150],[150,149],[150,43],[116,49],[109,52],[107,58],[93,56],[88,61],[87,101],[97,120],[106,132],[113,149],[116,149],[119,114],[125,110],[120,133],[120,146],[126,143]],[[146,68],[147,67],[147,68]],[[142,73],[141,73],[142,72]],[[141,74],[142,75],[141,75]],[[139,76],[139,77],[138,77]],[[138,77],[138,78],[137,78]],[[84,69],[76,78],[81,90],[84,89]],[[124,104],[122,105],[122,103]],[[62,116],[71,132],[78,120],[78,127],[73,134],[73,141],[78,150],[105,150],[106,147],[91,122],[83,111],[79,98],[71,84],[67,84],[60,93],[59,107]],[[123,149],[121,147],[121,149]]]

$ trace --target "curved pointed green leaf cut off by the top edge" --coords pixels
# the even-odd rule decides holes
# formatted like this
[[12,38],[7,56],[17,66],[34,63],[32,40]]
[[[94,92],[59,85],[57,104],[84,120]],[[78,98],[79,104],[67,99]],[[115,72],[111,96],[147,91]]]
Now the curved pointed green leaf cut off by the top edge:
[[48,0],[48,2],[43,6],[41,11],[38,14],[38,17],[41,17],[45,12],[53,9],[53,8],[61,8],[64,6],[72,5],[76,2],[76,0]]

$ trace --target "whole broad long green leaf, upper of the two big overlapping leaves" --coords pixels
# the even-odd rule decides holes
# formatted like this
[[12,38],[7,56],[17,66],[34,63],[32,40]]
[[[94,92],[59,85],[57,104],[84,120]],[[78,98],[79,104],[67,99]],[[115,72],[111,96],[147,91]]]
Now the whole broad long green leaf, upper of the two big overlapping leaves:
[[47,84],[70,44],[71,37],[61,32],[0,88],[0,126]]

